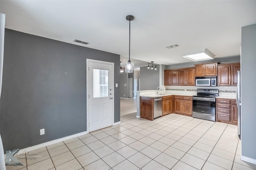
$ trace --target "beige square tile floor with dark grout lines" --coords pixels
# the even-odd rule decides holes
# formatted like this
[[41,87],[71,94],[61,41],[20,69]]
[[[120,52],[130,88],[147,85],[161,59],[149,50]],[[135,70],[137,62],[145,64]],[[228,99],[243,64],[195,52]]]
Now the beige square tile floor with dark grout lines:
[[[121,124],[27,153],[7,170],[252,170],[240,160],[237,126],[178,114],[136,118],[121,99]],[[33,157],[34,156],[34,157]]]

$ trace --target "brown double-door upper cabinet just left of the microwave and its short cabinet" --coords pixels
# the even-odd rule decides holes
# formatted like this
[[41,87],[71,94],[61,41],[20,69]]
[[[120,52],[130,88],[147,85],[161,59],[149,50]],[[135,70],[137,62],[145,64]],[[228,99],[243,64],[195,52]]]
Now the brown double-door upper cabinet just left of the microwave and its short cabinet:
[[194,86],[195,85],[195,68],[186,68],[178,70],[178,85],[180,86]]

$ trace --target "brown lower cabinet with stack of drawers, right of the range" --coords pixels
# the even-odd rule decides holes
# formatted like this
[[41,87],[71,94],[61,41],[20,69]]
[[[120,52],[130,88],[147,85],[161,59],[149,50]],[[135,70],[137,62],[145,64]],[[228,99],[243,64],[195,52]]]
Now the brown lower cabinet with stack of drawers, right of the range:
[[216,121],[237,125],[238,111],[235,99],[216,100]]

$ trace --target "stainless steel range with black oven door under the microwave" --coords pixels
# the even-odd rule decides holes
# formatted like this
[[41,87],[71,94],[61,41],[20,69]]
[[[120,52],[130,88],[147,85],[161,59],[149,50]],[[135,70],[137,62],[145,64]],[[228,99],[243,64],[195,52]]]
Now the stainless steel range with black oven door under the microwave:
[[192,117],[215,121],[215,97],[219,96],[218,89],[197,89],[193,96]]

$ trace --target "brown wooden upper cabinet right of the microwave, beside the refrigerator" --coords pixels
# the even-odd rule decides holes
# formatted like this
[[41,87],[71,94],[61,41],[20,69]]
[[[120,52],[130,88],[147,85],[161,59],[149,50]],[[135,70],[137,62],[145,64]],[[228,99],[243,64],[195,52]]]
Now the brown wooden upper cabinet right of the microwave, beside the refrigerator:
[[218,65],[218,86],[236,86],[240,63]]

